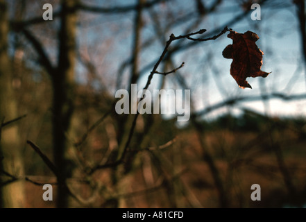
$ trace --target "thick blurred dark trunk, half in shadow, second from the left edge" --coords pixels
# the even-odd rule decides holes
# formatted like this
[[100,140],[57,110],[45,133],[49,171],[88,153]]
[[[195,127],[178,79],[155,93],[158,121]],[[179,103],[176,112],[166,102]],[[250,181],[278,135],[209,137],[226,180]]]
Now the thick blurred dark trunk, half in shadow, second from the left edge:
[[62,1],[62,15],[58,54],[58,67],[52,75],[53,83],[53,157],[62,178],[58,181],[58,207],[69,207],[71,197],[65,187],[65,178],[74,173],[71,160],[72,126],[74,112],[74,67],[76,58],[76,3],[75,0]]

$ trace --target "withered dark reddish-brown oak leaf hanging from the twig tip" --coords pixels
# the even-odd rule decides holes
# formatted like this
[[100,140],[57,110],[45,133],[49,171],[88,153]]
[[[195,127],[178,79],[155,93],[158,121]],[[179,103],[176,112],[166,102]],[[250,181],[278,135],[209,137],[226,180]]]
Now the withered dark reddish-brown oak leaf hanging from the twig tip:
[[222,55],[224,58],[232,58],[230,74],[235,78],[239,87],[252,88],[246,81],[248,77],[266,77],[271,72],[261,71],[262,55],[264,54],[256,45],[260,38],[256,33],[247,31],[244,34],[230,31],[228,37],[232,39],[232,44],[226,46]]

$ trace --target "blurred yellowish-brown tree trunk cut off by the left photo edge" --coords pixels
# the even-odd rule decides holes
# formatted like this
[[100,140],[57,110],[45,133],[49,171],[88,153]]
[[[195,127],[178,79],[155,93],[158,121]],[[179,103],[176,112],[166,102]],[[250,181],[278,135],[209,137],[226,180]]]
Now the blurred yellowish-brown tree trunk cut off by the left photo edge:
[[[12,89],[12,64],[8,58],[8,18],[5,0],[0,0],[0,119],[17,117],[17,104]],[[13,176],[24,176],[24,164],[15,123],[1,129],[0,170]],[[1,178],[0,178],[1,179]],[[1,180],[5,183],[5,180]],[[24,207],[24,182],[16,180],[0,187],[0,207]]]

